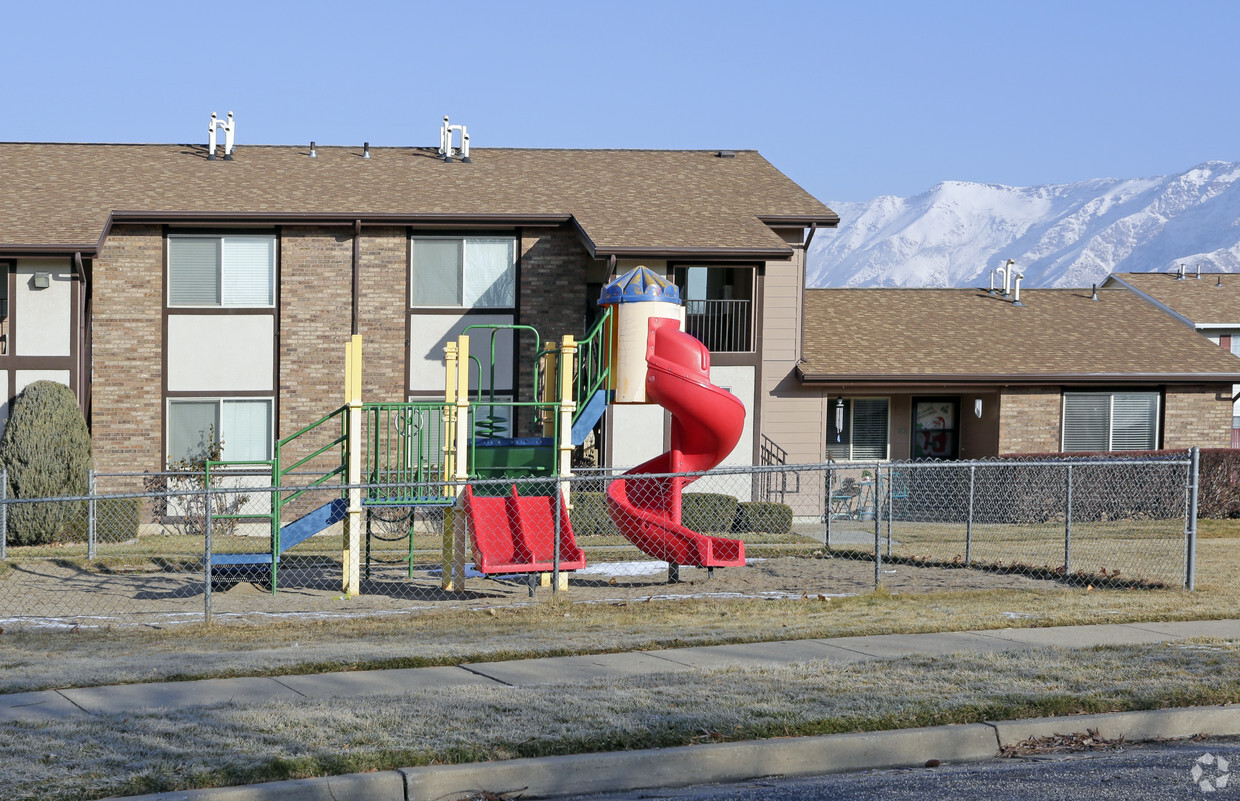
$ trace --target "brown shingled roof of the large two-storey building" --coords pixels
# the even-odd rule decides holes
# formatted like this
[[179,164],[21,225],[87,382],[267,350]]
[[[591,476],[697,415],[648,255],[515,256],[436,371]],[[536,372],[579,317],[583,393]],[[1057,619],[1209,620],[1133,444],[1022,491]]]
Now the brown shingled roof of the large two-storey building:
[[[595,257],[786,258],[769,224],[838,217],[755,151],[0,143],[0,254],[93,250],[114,221],[575,221]],[[222,149],[219,150],[222,154]]]

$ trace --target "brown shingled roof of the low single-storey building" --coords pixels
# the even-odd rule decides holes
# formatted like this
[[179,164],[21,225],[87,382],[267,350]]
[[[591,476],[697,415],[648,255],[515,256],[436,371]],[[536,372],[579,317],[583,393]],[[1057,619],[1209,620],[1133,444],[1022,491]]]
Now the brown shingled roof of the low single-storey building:
[[1240,381],[1231,356],[1125,289],[1037,289],[1024,306],[978,289],[811,289],[810,383]]

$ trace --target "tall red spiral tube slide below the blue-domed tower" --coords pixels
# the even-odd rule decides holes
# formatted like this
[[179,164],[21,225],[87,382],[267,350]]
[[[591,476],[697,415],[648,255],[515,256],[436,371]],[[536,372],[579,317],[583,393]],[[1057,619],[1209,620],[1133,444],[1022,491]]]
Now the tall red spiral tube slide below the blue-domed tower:
[[[711,383],[711,352],[655,317],[646,340],[646,394],[672,413],[672,449],[625,475],[697,472],[732,453],[745,424],[737,396]],[[745,543],[708,537],[681,524],[681,490],[692,477],[620,479],[608,487],[611,521],[642,552],[670,564],[703,568],[745,564]]]

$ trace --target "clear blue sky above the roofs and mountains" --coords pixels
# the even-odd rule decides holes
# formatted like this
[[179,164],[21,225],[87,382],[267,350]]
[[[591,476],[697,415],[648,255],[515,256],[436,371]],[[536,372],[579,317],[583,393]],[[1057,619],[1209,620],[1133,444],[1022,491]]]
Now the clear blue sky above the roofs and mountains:
[[[205,12],[205,10],[210,10]],[[1240,161],[1240,2],[7,0],[0,140],[756,149],[817,197]]]

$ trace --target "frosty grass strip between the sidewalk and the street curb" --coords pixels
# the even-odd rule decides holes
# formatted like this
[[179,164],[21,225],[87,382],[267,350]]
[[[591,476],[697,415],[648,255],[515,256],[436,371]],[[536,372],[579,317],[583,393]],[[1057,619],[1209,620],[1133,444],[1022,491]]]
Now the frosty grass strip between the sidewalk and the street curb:
[[[906,657],[0,724],[15,801],[1240,701],[1240,645]],[[48,781],[55,774],[56,781]]]

